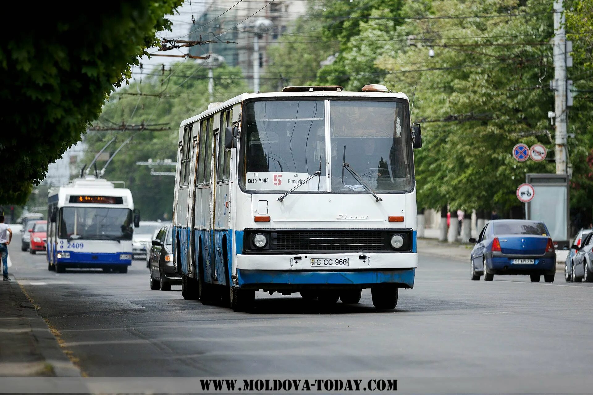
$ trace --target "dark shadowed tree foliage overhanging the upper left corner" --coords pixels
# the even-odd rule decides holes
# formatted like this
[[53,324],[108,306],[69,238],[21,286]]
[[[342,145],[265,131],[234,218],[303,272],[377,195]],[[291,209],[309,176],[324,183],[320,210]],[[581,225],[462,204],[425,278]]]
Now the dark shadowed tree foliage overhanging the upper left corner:
[[155,32],[170,27],[164,15],[180,4],[120,1],[79,8],[75,17],[36,4],[43,23],[2,40],[0,157],[9,171],[0,201],[24,203],[30,184],[81,139],[107,94],[129,77],[130,64],[157,42]]

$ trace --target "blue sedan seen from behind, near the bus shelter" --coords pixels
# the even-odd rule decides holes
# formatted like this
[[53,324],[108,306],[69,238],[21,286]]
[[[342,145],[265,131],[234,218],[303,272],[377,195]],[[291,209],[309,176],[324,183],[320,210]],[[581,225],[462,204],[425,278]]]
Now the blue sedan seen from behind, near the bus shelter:
[[530,275],[531,281],[554,282],[556,252],[541,221],[492,220],[471,250],[471,280],[492,281],[495,274]]

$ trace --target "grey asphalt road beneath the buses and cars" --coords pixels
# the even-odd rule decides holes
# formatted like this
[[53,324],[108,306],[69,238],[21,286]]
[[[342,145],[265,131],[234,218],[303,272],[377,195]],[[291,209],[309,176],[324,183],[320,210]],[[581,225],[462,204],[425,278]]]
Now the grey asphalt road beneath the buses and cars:
[[11,273],[91,377],[588,377],[593,284],[528,277],[470,281],[467,262],[420,253],[413,290],[376,312],[370,291],[331,314],[299,294],[256,294],[255,313],[151,291],[144,261],[127,274],[47,271],[9,246]]

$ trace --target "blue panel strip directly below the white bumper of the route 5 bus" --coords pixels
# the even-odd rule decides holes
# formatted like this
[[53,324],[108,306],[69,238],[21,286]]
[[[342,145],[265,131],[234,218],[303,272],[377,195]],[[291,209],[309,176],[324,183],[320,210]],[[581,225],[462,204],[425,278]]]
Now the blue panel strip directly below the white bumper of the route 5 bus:
[[359,270],[359,271],[273,271],[237,269],[241,288],[353,287],[370,288],[379,284],[397,284],[413,288],[416,269]]

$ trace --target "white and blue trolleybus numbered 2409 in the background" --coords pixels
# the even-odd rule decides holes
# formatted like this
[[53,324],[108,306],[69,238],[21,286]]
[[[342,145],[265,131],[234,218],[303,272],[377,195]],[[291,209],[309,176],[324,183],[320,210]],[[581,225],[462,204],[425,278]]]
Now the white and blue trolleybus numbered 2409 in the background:
[[127,272],[132,233],[140,221],[132,194],[106,179],[77,178],[47,198],[47,268]]

